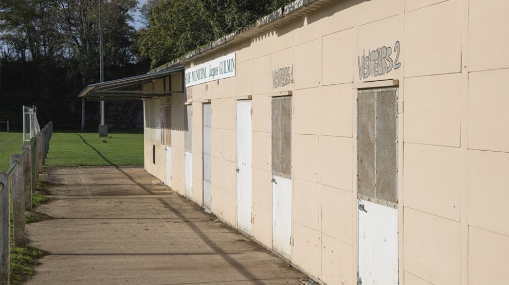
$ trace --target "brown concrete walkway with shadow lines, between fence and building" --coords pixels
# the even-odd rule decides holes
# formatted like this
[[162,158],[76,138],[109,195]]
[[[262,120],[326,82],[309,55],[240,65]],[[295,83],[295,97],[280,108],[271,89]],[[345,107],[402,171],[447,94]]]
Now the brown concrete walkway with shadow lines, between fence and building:
[[[302,284],[305,275],[142,167],[46,168],[48,252],[26,284]],[[215,222],[214,222],[215,221]]]

